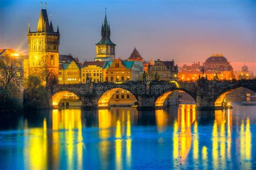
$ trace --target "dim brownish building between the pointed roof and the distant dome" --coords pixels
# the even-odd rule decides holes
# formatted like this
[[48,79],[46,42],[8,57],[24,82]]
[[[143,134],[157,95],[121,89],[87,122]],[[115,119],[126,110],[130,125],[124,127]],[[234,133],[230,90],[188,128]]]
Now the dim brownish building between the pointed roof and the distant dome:
[[178,66],[172,61],[154,61],[154,65],[149,65],[149,76],[154,80],[155,75],[159,75],[159,80],[176,80],[178,78]]

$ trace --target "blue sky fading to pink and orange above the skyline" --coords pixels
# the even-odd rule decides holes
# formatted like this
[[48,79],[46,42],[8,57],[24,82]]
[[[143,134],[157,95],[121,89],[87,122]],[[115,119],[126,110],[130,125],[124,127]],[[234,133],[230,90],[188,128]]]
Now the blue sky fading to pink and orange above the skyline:
[[[0,0],[0,48],[28,54],[28,23],[36,31],[40,0]],[[45,1],[43,0],[43,8]],[[60,31],[60,54],[92,61],[105,8],[116,58],[134,47],[145,60],[205,62],[223,53],[235,70],[256,73],[256,0],[48,0]]]

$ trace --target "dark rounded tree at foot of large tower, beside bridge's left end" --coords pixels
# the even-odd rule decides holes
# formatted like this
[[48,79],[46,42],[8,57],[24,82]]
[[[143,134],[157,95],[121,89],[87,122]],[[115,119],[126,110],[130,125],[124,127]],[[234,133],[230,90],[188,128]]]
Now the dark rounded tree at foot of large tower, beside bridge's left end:
[[48,108],[48,93],[36,76],[29,76],[24,91],[24,109],[38,110]]

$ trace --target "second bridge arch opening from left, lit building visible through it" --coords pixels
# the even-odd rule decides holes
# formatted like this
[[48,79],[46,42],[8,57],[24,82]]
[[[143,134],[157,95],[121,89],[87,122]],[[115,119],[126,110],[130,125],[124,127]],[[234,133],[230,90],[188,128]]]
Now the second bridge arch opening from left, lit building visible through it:
[[134,102],[137,102],[137,98],[132,95],[129,90],[123,88],[113,88],[106,91],[98,100],[98,107],[109,107],[110,101],[118,105],[133,105]]

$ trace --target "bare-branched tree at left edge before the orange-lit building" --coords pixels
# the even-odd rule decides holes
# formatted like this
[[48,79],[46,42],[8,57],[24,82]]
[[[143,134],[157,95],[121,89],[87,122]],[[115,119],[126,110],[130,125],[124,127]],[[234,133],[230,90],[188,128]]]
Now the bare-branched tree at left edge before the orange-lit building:
[[0,82],[5,89],[12,85],[21,86],[20,83],[23,83],[22,62],[17,58],[10,56],[1,58],[0,72]]

